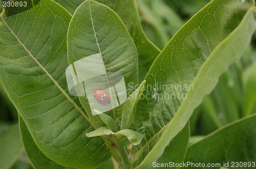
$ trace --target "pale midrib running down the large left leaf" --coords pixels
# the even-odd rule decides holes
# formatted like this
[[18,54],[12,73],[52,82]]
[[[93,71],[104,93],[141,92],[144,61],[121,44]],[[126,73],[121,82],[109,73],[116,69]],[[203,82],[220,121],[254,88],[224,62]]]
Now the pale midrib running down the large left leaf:
[[34,55],[28,50],[28,48],[24,45],[24,43],[17,37],[17,35],[11,30],[11,28],[8,26],[8,24],[6,23],[5,19],[3,18],[2,15],[0,15],[0,17],[2,18],[3,22],[5,23],[5,25],[8,27],[8,29],[10,30],[11,34],[17,39],[17,41],[19,42],[20,45],[23,46],[23,48],[28,52],[28,54],[30,55],[30,57],[37,63],[37,65],[50,77],[50,79],[54,82],[54,84],[56,85],[56,87],[61,91],[61,93],[71,102],[71,104],[74,105],[74,107],[80,112],[80,114],[84,117],[84,119],[86,119],[91,126],[93,126],[94,128],[95,125],[91,122],[91,120],[89,119],[89,117],[84,114],[83,110],[74,102],[74,100],[65,92],[65,90],[63,90],[60,85],[58,84],[58,82],[52,77],[52,75],[36,60],[36,58],[34,57]]

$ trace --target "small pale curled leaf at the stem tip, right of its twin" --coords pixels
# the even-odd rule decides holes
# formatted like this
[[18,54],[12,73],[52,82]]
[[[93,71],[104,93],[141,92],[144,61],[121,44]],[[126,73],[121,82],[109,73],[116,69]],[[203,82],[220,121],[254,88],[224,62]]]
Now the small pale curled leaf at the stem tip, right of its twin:
[[133,131],[133,130],[130,130],[130,129],[123,129],[123,130],[120,130],[116,133],[116,135],[118,136],[119,134],[121,135],[124,135],[125,137],[127,137],[129,139],[129,141],[133,144],[133,145],[138,145],[140,144],[142,138],[143,138],[143,135],[136,132],[136,131]]

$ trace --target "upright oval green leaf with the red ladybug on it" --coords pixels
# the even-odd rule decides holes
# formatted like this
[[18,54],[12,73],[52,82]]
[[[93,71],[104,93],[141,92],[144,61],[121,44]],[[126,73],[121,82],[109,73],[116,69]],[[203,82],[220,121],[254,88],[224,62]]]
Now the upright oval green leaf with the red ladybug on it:
[[[89,0],[77,8],[71,19],[67,42],[73,79],[81,77],[78,85],[83,96],[79,100],[90,119],[102,126],[99,117],[93,116],[93,109],[114,120],[120,118],[127,98],[125,88],[138,81],[137,51],[125,25],[113,10]],[[97,88],[110,95],[109,105],[93,98]]]

